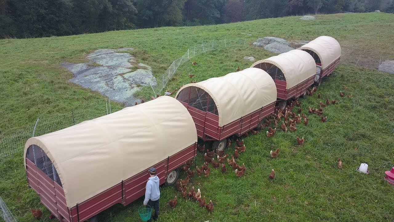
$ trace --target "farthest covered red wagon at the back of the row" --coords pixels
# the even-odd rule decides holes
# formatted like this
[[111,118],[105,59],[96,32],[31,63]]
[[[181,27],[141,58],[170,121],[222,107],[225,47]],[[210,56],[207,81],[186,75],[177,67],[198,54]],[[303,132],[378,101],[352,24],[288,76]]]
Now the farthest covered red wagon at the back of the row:
[[339,64],[342,49],[338,41],[330,36],[320,36],[298,48],[309,53],[316,63],[316,85],[322,83],[322,78],[330,75]]

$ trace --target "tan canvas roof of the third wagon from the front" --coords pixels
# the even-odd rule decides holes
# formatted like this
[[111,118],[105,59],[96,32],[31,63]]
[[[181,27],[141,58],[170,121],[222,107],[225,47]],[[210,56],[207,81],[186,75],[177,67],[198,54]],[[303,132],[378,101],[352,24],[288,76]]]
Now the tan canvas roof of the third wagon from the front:
[[295,87],[316,74],[315,60],[309,53],[294,49],[287,53],[272,56],[253,63],[251,67],[259,63],[270,63],[282,70],[286,78],[286,89]]

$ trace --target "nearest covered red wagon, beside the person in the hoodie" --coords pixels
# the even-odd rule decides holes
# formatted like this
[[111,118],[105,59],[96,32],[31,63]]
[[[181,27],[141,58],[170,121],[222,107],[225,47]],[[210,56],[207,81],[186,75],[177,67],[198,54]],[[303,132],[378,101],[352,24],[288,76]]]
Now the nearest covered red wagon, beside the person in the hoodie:
[[145,194],[148,169],[175,183],[178,167],[196,155],[188,110],[170,96],[28,139],[28,184],[59,220],[82,222]]

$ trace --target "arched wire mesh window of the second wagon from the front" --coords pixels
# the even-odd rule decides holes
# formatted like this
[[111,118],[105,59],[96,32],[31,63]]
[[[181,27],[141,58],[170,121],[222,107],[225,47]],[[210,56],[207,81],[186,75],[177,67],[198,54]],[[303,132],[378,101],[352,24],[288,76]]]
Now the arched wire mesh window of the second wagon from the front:
[[212,97],[199,87],[186,87],[179,92],[177,100],[188,103],[201,111],[219,115]]

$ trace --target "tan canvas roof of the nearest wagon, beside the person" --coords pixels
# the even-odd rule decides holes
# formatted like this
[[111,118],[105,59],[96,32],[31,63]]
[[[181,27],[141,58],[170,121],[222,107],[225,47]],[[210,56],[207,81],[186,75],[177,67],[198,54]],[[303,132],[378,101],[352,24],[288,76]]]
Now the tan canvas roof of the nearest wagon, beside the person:
[[[28,139],[52,160],[68,207],[197,142],[187,109],[170,96]],[[26,166],[26,158],[25,158]]]

